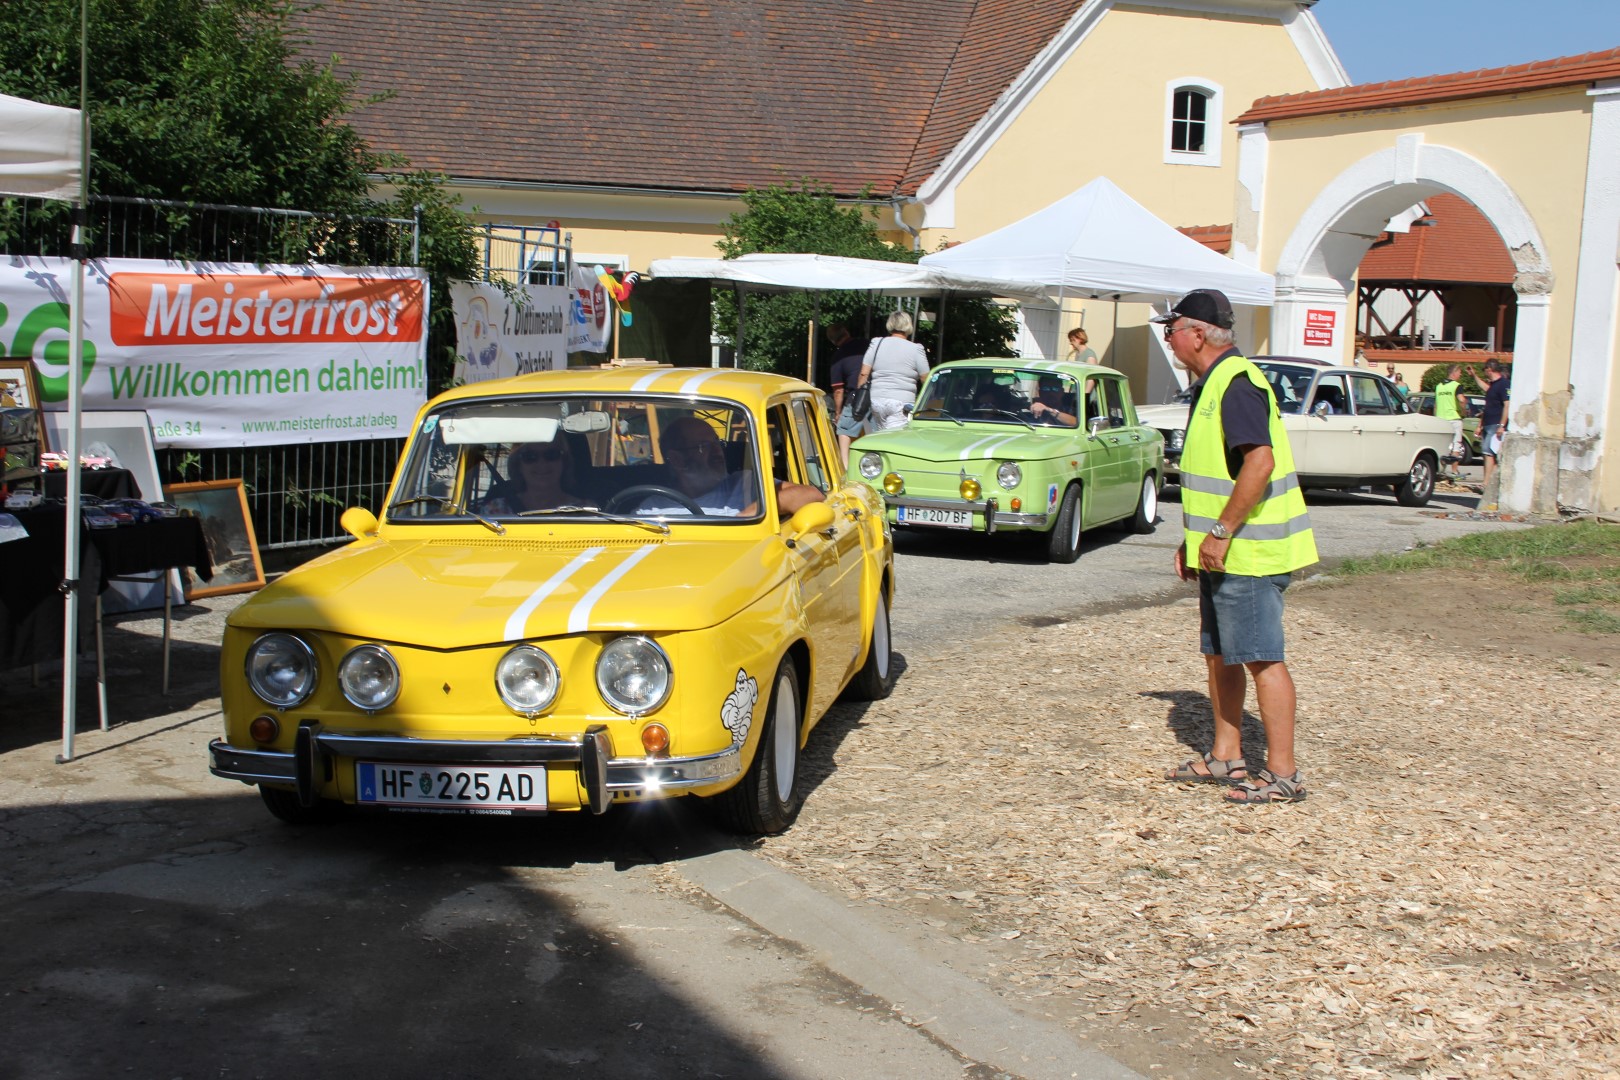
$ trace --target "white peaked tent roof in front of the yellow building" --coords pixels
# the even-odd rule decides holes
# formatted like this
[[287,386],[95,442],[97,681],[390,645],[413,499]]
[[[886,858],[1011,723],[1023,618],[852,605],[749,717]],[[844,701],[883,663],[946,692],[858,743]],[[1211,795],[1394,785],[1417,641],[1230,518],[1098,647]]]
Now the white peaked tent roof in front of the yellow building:
[[1176,300],[1194,288],[1218,288],[1236,304],[1270,306],[1273,296],[1270,274],[1171,228],[1106,176],[1024,220],[927,254],[920,266],[1131,303]]

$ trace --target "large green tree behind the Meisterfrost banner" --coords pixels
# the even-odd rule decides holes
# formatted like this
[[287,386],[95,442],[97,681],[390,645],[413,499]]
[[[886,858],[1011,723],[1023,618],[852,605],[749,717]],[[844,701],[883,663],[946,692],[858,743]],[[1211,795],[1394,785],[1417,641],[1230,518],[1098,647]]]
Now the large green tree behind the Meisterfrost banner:
[[[470,222],[444,178],[373,152],[343,123],[368,104],[353,79],[300,58],[295,0],[84,0],[87,28],[89,191],[105,196],[282,207],[321,214],[321,222],[267,227],[230,219],[225,235],[193,228],[196,214],[154,210],[144,251],[224,257],[230,244],[253,261],[403,264],[402,230],[343,219],[405,217],[421,207],[421,264],[433,279],[429,379],[442,385],[454,355],[446,338],[450,277],[476,277],[481,259]],[[79,105],[81,0],[0,3],[0,92]],[[394,189],[373,194],[376,178]],[[65,253],[62,204],[28,206],[29,236]],[[0,244],[16,248],[18,201],[0,207]],[[52,222],[57,232],[52,236]],[[97,240],[92,236],[92,241]],[[100,240],[107,240],[102,236]]]

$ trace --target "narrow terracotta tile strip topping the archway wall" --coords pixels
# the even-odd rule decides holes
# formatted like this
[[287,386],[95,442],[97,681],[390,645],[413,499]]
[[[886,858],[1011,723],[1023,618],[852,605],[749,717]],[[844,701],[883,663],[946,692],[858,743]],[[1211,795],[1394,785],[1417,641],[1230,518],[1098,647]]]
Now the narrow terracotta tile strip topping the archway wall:
[[1520,94],[1555,86],[1580,86],[1581,83],[1615,78],[1620,78],[1620,49],[1605,49],[1580,57],[1518,63],[1510,68],[1484,68],[1481,71],[1458,71],[1456,74],[1430,74],[1418,79],[1364,83],[1361,86],[1340,86],[1307,94],[1262,97],[1233,123],[1260,123],[1296,117],[1320,117],[1336,112],[1359,112],[1364,108],[1426,105],[1464,97],[1489,97],[1494,94]]

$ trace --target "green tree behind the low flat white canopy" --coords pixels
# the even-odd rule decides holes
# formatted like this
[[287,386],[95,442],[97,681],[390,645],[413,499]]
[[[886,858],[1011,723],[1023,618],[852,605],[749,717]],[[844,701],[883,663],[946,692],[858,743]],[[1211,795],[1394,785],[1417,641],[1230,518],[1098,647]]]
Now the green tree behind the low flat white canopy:
[[[744,210],[726,220],[724,236],[716,244],[726,259],[757,251],[888,262],[917,262],[919,257],[919,253],[883,240],[873,207],[841,206],[829,188],[813,180],[753,188],[744,193],[742,202]],[[889,296],[868,298],[854,291],[829,291],[818,298],[807,293],[750,293],[744,313],[742,363],[757,371],[804,377],[805,332],[816,311],[823,325],[842,321],[857,335],[863,329],[883,334],[883,319],[894,304]],[[1004,309],[983,300],[951,300],[944,319],[948,359],[1011,355],[1006,342],[1013,334],[1013,317]],[[714,330],[726,340],[737,342],[737,301],[731,288],[714,290]],[[938,327],[933,321],[920,321],[917,340],[933,359],[940,359],[935,348]]]

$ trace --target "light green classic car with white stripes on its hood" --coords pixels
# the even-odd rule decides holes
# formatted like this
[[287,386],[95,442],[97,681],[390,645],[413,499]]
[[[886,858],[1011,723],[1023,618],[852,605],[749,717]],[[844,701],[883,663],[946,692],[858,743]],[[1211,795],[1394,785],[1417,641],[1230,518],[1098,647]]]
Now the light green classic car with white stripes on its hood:
[[1121,372],[1050,359],[940,364],[904,427],[849,447],[893,525],[1045,533],[1053,562],[1074,562],[1087,528],[1152,533],[1163,463]]

